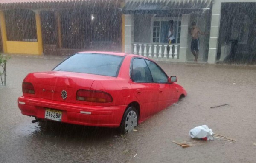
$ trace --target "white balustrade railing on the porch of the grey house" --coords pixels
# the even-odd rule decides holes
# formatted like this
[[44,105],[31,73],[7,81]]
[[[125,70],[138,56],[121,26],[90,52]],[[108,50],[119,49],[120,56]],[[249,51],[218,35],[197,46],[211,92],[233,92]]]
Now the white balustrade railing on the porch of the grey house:
[[136,55],[163,59],[179,58],[179,44],[132,43],[132,45],[133,53]]

